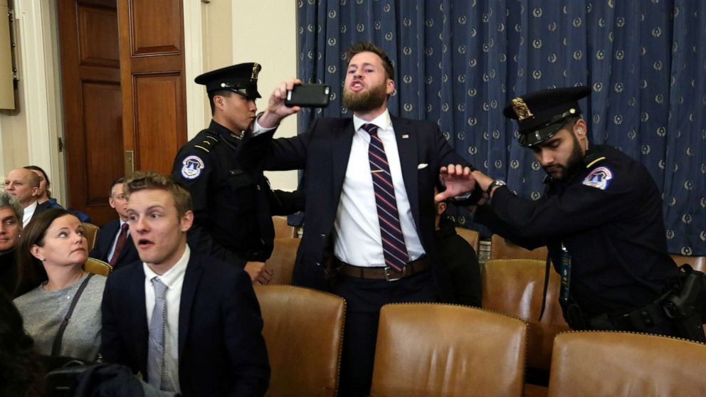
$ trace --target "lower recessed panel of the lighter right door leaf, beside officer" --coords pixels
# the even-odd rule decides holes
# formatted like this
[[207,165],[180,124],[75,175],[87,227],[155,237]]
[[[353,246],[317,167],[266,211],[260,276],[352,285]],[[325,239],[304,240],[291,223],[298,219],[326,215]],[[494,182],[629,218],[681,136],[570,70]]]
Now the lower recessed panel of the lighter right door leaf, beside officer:
[[179,95],[184,81],[180,73],[154,73],[135,75],[134,86],[136,165],[169,174],[179,149],[174,132],[186,128],[177,117],[186,107]]

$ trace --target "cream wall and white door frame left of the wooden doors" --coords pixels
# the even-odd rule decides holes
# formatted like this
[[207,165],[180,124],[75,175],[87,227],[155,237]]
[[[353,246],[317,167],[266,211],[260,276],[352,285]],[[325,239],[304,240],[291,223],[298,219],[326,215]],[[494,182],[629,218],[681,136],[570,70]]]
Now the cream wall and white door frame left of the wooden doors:
[[19,83],[16,110],[0,112],[0,171],[4,179],[11,169],[41,166],[52,196],[65,203],[56,23],[56,0],[14,1]]

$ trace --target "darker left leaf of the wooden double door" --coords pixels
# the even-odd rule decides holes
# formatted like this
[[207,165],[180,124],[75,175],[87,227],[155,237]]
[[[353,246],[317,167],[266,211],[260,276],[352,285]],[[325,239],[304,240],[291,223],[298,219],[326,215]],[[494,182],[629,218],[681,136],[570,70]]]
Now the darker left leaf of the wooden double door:
[[116,0],[58,0],[59,43],[71,208],[102,224],[116,217],[110,183],[124,174]]

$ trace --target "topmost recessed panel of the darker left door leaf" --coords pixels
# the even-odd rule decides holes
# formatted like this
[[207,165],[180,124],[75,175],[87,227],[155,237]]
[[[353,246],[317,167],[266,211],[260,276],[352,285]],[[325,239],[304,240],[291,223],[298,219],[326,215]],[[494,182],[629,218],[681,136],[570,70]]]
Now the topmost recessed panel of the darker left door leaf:
[[[79,5],[78,36],[81,65],[120,68],[115,9]],[[100,41],[95,39],[98,37],[101,38]]]

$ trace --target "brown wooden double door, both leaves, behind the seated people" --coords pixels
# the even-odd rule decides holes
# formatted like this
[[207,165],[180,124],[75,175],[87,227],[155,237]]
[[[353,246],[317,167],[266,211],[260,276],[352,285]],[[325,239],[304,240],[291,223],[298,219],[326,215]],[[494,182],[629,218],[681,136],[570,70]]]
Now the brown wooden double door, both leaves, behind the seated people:
[[186,142],[181,0],[57,0],[68,206],[116,218],[110,183],[169,174]]

